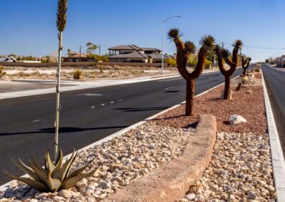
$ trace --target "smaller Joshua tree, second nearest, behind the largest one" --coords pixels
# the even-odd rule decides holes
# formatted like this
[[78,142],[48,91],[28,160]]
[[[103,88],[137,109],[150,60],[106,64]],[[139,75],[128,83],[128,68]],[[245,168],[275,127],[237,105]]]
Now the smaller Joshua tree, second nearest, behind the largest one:
[[[216,45],[214,48],[218,58],[219,70],[222,75],[224,75],[224,100],[229,99],[229,89],[231,84],[230,77],[234,73],[234,70],[237,68],[238,52],[239,48],[242,48],[242,41],[234,41],[234,44],[232,46],[234,46],[234,50],[232,50],[232,60],[229,59],[229,50],[223,49],[219,45]],[[224,68],[224,61],[229,65],[229,70],[226,70],[226,68]]]

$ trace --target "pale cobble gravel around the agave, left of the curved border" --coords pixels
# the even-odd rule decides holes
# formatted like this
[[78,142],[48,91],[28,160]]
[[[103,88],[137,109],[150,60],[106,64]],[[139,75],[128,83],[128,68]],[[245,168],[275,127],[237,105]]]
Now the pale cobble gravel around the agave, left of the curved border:
[[[58,193],[38,193],[28,186],[12,183],[0,201],[100,201],[118,188],[178,157],[194,129],[164,127],[145,123],[108,142],[86,149],[78,154],[76,166],[90,161],[86,171],[96,169],[93,177],[83,179],[71,190]],[[6,198],[3,198],[3,195]],[[31,199],[32,198],[32,199]]]

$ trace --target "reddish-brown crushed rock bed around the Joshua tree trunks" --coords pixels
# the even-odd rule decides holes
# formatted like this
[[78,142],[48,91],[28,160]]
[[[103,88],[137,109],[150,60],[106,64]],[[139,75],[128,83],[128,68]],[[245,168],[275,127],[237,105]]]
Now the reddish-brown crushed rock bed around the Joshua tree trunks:
[[[252,132],[265,134],[267,129],[262,86],[241,87],[232,85],[232,100],[220,100],[224,86],[219,86],[204,95],[195,97],[194,113],[192,117],[185,116],[185,105],[176,107],[151,121],[156,124],[171,127],[195,127],[199,115],[214,115],[217,117],[217,132]],[[252,93],[247,93],[252,90]],[[231,115],[241,115],[247,122],[237,125],[229,124]]]

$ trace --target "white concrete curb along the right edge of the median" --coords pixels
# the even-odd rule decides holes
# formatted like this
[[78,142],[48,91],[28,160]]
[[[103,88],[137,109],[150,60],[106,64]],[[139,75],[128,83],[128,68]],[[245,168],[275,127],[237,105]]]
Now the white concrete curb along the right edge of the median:
[[[262,74],[262,71],[261,71]],[[277,192],[277,201],[285,201],[285,161],[280,144],[279,135],[276,129],[274,115],[271,109],[264,77],[262,74],[262,86],[264,90],[264,102],[271,149],[271,161],[273,166],[274,185]]]

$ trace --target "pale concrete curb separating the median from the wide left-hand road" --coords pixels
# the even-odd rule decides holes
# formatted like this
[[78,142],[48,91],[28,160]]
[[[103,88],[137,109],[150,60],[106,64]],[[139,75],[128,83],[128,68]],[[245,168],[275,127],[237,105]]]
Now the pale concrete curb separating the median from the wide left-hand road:
[[[237,75],[236,77],[232,78],[232,80],[235,79],[235,78],[238,78],[238,77],[239,77],[239,75]],[[221,83],[221,84],[219,84],[219,85],[216,85],[216,86],[214,86],[214,87],[211,87],[211,88],[209,88],[209,90],[206,90],[206,91],[204,91],[204,92],[201,92],[201,93],[198,94],[198,95],[195,95],[195,97],[199,97],[199,96],[201,96],[201,95],[204,95],[205,93],[209,92],[210,90],[213,90],[214,88],[219,87],[219,86],[221,86],[221,85],[223,85],[223,84],[224,84],[224,83]],[[119,135],[121,135],[121,134],[127,132],[127,131],[130,130],[130,129],[133,129],[133,128],[139,126],[140,124],[144,124],[145,122],[147,122],[147,120],[150,120],[150,119],[153,119],[153,118],[155,118],[155,117],[158,117],[159,115],[162,115],[163,113],[168,112],[169,110],[172,110],[172,109],[174,109],[174,108],[176,108],[176,107],[179,107],[180,105],[183,105],[183,104],[185,104],[185,101],[184,101],[184,102],[180,102],[179,104],[174,105],[174,106],[172,106],[172,107],[170,107],[170,108],[168,108],[168,109],[166,109],[166,110],[163,110],[162,112],[158,112],[157,114],[152,115],[151,117],[148,117],[148,118],[146,118],[146,119],[143,120],[143,121],[137,122],[137,123],[135,123],[135,124],[133,124],[133,125],[131,125],[131,126],[129,126],[129,127],[126,127],[125,129],[121,129],[120,131],[115,132],[114,134],[110,134],[108,137],[105,137],[105,138],[103,138],[103,139],[100,139],[100,140],[98,140],[97,142],[94,142],[94,143],[92,143],[92,144],[89,144],[89,145],[86,146],[86,147],[83,147],[83,148],[81,148],[81,149],[78,149],[78,152],[83,151],[83,150],[85,150],[85,149],[90,149],[90,148],[92,148],[92,147],[95,147],[95,146],[98,145],[98,144],[102,144],[103,142],[107,142],[108,140],[113,139],[114,137],[117,137],[117,136],[119,136]],[[68,155],[64,156],[63,158],[64,158],[64,159],[70,158],[71,155],[72,155],[72,154],[68,154]],[[26,175],[21,176],[21,177],[28,177],[28,175],[26,174]],[[9,187],[9,184],[10,184],[10,183],[11,183],[11,181],[7,182],[6,184],[1,185],[1,186],[0,186],[0,191],[6,190],[6,188]]]

